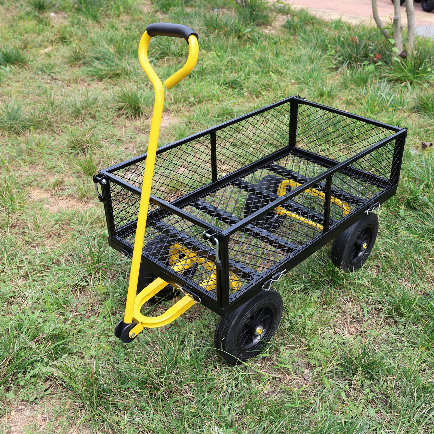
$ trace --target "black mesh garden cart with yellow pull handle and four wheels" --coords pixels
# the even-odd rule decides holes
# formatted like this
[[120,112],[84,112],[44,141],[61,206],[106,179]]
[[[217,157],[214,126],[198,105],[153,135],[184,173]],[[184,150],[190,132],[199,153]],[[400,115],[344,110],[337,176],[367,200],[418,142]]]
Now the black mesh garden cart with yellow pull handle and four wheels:
[[[148,61],[157,35],[189,44],[167,88],[195,66],[193,30],[147,27],[139,59],[155,88],[148,152],[93,178],[109,244],[132,259],[115,335],[131,342],[202,303],[220,315],[215,348],[235,364],[275,334],[283,303],[272,284],[284,273],[333,239],[335,266],[365,263],[375,210],[396,192],[407,130],[291,96],[157,148],[164,89]],[[141,313],[181,293],[163,314]]]

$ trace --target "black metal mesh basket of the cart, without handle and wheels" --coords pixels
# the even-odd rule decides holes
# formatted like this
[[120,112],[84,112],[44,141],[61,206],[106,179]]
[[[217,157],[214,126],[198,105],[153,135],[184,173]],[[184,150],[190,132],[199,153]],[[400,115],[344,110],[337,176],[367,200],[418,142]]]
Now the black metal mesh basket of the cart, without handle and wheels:
[[[396,193],[406,135],[291,96],[158,148],[141,265],[227,316]],[[109,244],[129,257],[145,161],[140,155],[94,177]],[[298,186],[279,196],[258,187],[263,175]],[[246,215],[249,195],[261,206]],[[351,211],[345,215],[337,203]],[[264,218],[276,209],[301,220],[268,230]],[[162,251],[167,239],[215,269],[174,271]],[[152,243],[161,248],[146,247]],[[200,282],[211,273],[216,287],[207,290]]]

